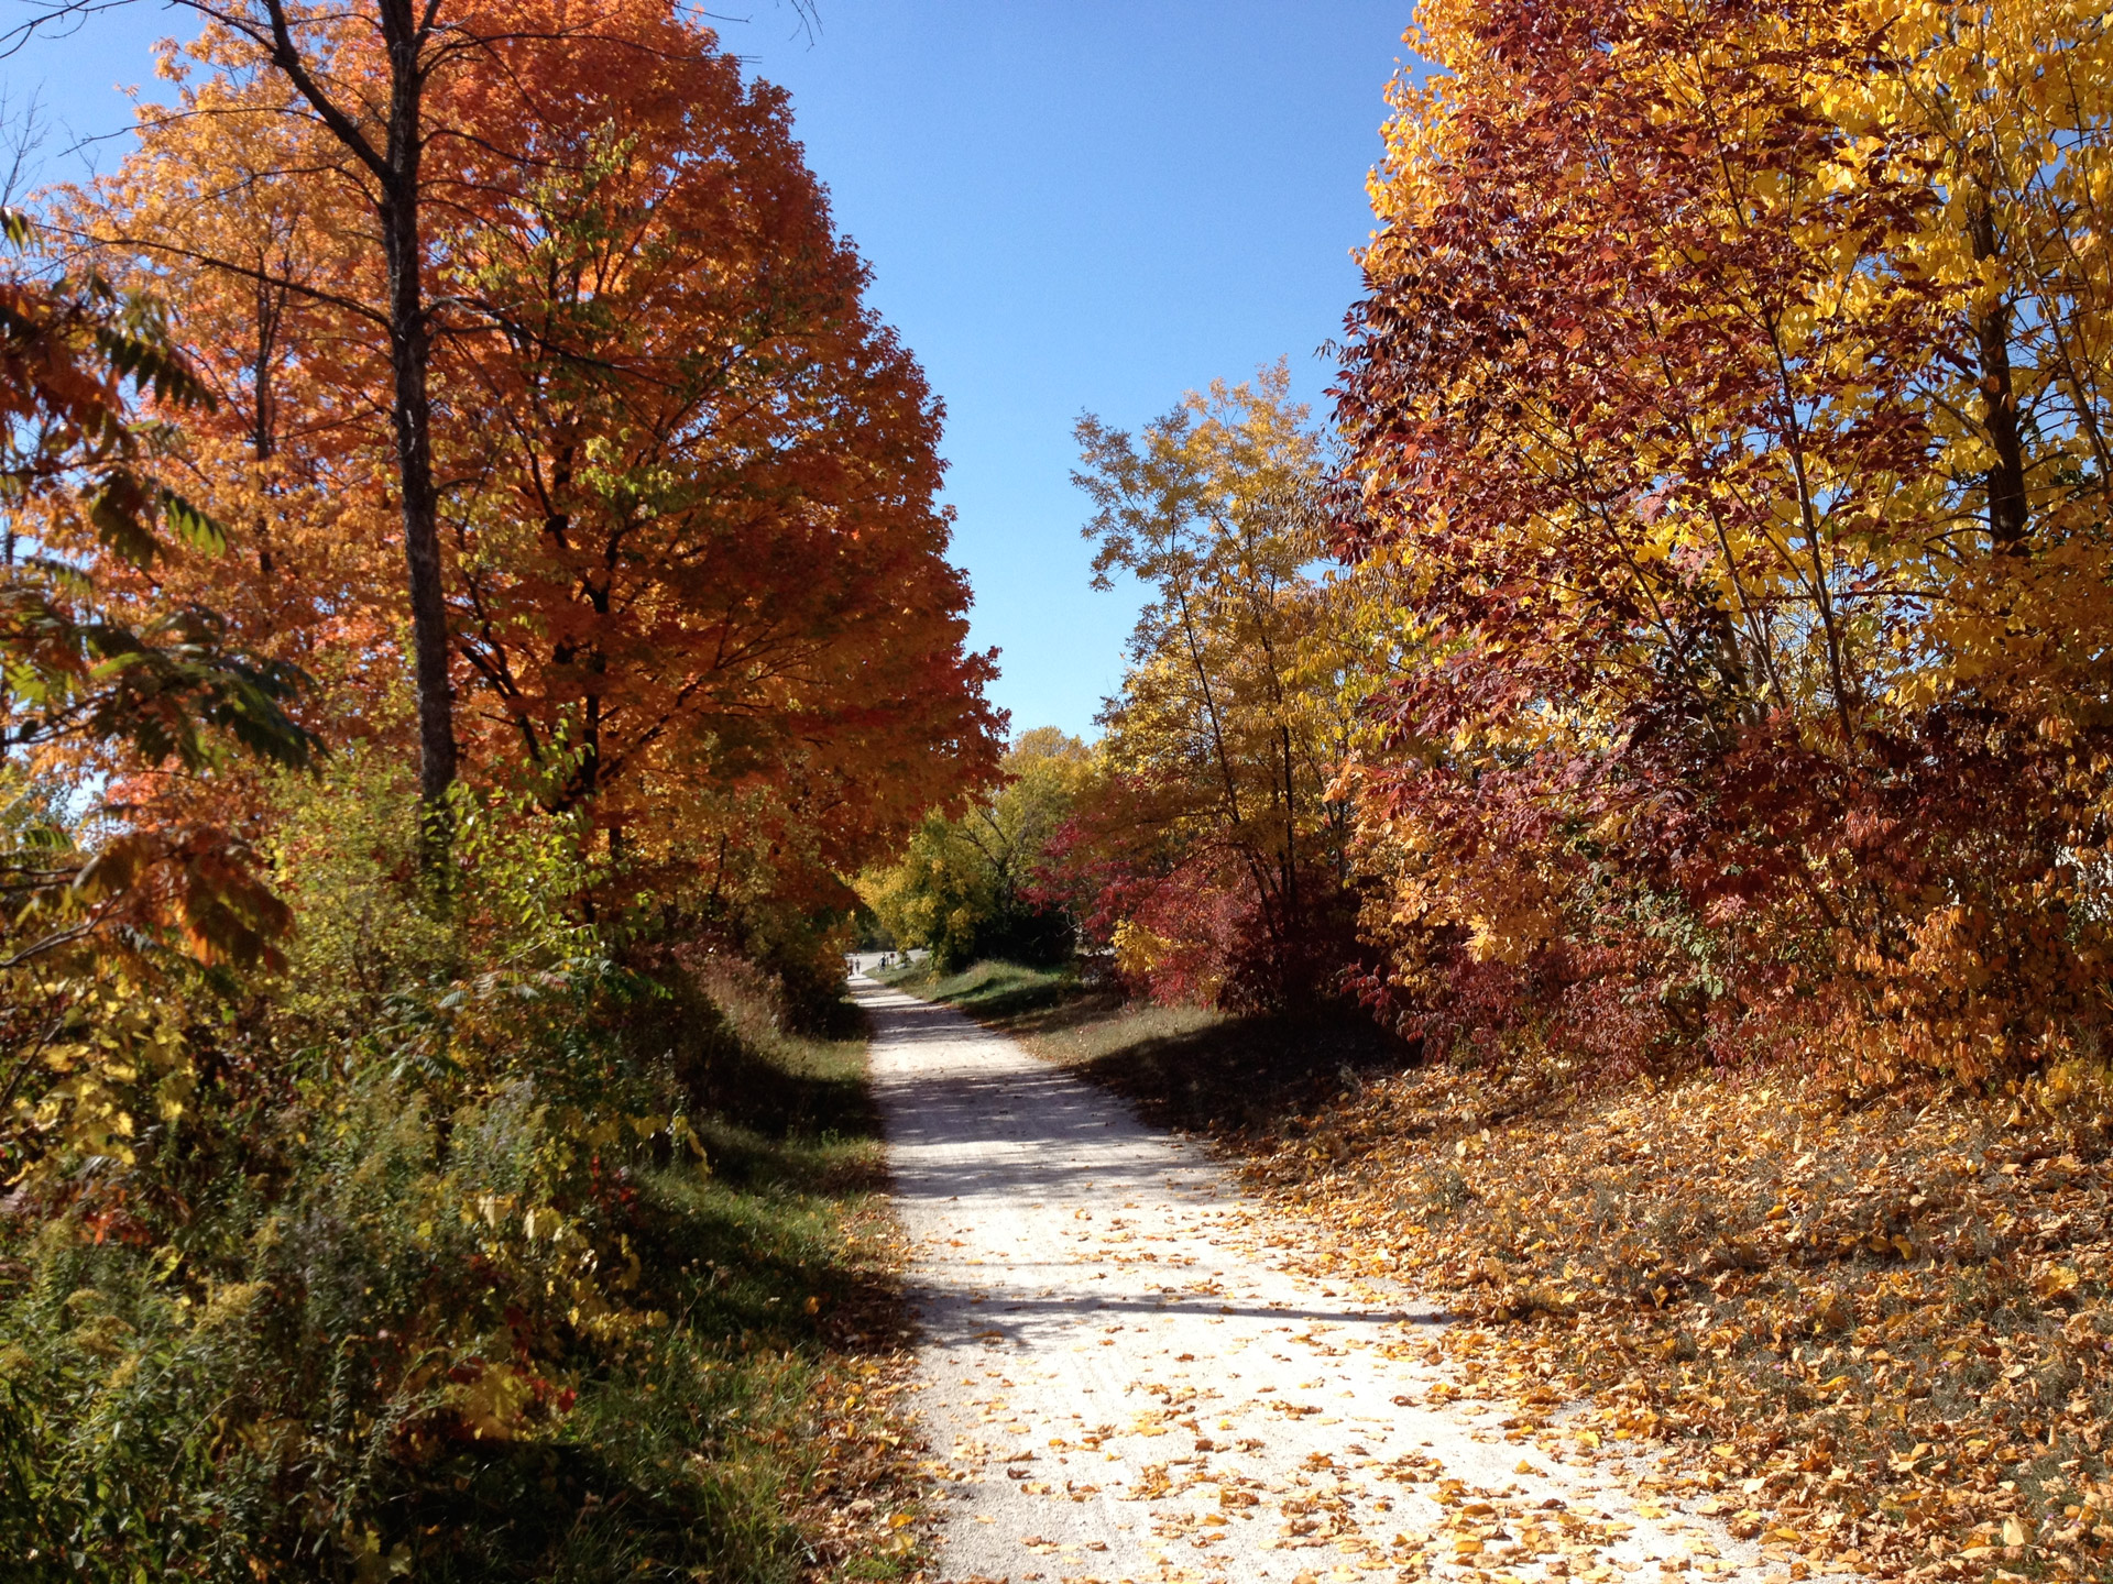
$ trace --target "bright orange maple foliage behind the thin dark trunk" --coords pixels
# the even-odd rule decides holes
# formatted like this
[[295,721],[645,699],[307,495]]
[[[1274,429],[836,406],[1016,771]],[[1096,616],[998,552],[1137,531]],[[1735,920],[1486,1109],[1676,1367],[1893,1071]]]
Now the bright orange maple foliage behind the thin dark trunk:
[[[938,403],[862,304],[784,95],[668,4],[516,6],[423,89],[431,454],[459,731],[642,862],[852,870],[991,775]],[[541,17],[541,21],[537,21]],[[389,279],[363,175],[211,27],[68,224],[180,304],[230,608],[395,733]],[[171,59],[171,70],[175,61]],[[340,91],[380,95],[347,49]],[[799,862],[792,862],[801,849]],[[830,889],[828,885],[822,887]]]

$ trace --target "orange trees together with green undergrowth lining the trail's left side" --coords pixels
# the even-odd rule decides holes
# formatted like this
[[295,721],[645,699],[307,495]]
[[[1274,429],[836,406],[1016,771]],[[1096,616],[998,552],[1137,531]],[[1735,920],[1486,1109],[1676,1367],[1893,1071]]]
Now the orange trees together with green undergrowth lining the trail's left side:
[[0,268],[0,1552],[790,1578],[938,401],[687,8],[192,15]]

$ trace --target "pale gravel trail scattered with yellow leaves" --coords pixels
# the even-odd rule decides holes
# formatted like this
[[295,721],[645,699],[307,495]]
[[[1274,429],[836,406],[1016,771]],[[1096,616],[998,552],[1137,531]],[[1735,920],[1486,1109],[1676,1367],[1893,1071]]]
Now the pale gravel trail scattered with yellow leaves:
[[[949,1580],[1760,1580],[1722,1525],[1447,1404],[1435,1322],[1280,1269],[1200,1149],[961,1014],[873,1020]],[[1785,1578],[1781,1571],[1775,1578]]]

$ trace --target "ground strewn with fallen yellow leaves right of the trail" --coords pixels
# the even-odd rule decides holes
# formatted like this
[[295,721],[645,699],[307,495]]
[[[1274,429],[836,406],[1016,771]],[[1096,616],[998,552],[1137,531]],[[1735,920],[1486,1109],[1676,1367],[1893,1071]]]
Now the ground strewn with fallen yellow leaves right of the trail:
[[2113,1563],[2102,1096],[2054,1115],[1781,1073],[1576,1094],[1526,1071],[1321,1075],[1289,1022],[1268,1024],[1280,1062],[1253,1024],[1090,1022],[1018,1033],[1238,1153],[1319,1225],[1314,1274],[1454,1314],[1441,1345],[1513,1438],[1663,1440],[1673,1466],[1646,1483],[1792,1578]]

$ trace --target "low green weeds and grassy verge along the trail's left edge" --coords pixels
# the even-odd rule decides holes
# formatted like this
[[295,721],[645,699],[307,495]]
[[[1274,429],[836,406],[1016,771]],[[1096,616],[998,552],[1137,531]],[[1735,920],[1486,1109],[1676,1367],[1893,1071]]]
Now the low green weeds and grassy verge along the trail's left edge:
[[[913,1571],[862,1031],[794,1033],[765,991],[699,986],[666,1096],[697,1149],[611,1136],[581,1204],[537,1185],[566,1140],[526,1090],[435,1113],[370,1075],[258,1113],[237,1159],[277,1178],[104,1238],[0,1219],[6,1576]],[[587,1236],[606,1312],[545,1314],[524,1284]]]

